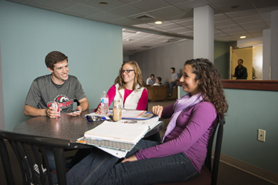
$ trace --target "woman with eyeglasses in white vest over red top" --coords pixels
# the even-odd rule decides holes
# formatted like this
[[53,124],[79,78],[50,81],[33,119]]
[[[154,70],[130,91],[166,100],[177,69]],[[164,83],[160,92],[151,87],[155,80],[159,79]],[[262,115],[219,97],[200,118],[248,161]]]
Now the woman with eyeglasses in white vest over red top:
[[[146,109],[148,94],[137,62],[123,62],[119,76],[117,76],[115,84],[112,85],[107,94],[109,106],[113,100],[120,100],[120,104],[124,109]],[[100,105],[95,109],[95,112],[101,114]]]

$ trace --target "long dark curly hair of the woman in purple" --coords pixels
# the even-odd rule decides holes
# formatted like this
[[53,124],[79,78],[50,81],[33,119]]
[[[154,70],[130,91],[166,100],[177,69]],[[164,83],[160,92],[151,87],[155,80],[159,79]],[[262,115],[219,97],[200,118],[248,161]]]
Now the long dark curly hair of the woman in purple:
[[192,73],[195,73],[195,81],[199,80],[199,92],[204,100],[211,102],[217,114],[224,115],[228,111],[228,103],[224,96],[220,73],[215,65],[207,59],[197,58],[187,60],[184,64],[192,67]]

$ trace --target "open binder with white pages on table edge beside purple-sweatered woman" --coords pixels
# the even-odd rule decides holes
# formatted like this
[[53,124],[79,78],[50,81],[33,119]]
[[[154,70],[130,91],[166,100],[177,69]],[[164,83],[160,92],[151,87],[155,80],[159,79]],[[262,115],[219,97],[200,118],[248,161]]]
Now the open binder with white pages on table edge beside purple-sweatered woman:
[[95,146],[115,157],[122,158],[136,146],[136,143],[149,130],[161,123],[158,119],[158,116],[156,116],[148,120],[104,121],[104,123],[101,123],[102,126],[99,125],[92,130],[88,130],[83,137],[76,139],[76,143]]

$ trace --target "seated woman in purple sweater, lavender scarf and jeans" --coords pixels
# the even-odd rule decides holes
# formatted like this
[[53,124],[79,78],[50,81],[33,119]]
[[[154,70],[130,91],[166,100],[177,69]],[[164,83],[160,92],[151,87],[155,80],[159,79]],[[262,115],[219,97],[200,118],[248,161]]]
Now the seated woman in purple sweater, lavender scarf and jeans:
[[67,173],[68,184],[158,184],[196,177],[206,146],[227,100],[215,66],[206,59],[188,60],[180,79],[186,96],[152,112],[171,118],[161,143],[142,139],[124,160],[95,149]]

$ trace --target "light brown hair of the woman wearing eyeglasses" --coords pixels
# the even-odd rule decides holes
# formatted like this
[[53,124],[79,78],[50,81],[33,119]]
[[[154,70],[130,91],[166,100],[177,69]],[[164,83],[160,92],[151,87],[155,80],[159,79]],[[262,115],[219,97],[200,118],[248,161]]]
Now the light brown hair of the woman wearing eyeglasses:
[[[124,64],[130,64],[134,69],[135,77],[134,77],[134,82],[133,82],[133,88],[132,89],[133,90],[136,89],[137,85],[139,85],[139,88],[145,87],[144,80],[142,78],[142,73],[141,73],[140,67],[137,64],[137,62],[135,62],[133,60],[123,62],[122,67],[124,67]],[[126,88],[125,87],[126,82],[124,82],[124,79],[122,78],[122,67],[119,70],[119,76],[117,76],[117,78],[115,79],[115,84],[120,85],[119,89],[125,89]]]

